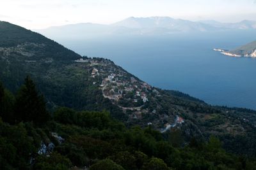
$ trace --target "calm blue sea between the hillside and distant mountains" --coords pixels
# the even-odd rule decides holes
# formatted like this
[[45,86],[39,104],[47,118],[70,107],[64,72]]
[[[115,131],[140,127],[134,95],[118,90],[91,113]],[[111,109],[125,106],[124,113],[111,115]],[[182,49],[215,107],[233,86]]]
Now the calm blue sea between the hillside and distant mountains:
[[212,105],[256,110],[256,59],[212,50],[255,40],[253,30],[58,39],[81,55],[111,59],[155,87],[179,90]]

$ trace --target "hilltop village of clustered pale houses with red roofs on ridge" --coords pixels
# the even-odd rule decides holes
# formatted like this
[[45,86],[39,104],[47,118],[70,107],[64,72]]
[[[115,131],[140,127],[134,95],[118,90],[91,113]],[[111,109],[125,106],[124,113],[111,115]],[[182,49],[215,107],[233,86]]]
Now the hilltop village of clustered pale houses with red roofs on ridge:
[[[184,123],[184,119],[179,115],[159,114],[159,111],[161,111],[161,105],[157,101],[157,97],[161,97],[159,90],[127,73],[122,67],[113,67],[113,62],[109,60],[80,59],[76,62],[90,64],[90,67],[92,67],[90,78],[92,78],[93,85],[99,86],[105,98],[122,108],[124,113],[129,116],[129,122],[145,121],[145,118],[147,118],[147,125],[153,125],[161,132]],[[150,106],[155,106],[155,108]],[[159,115],[158,120],[154,122],[155,117]],[[154,119],[151,117],[154,117]]]

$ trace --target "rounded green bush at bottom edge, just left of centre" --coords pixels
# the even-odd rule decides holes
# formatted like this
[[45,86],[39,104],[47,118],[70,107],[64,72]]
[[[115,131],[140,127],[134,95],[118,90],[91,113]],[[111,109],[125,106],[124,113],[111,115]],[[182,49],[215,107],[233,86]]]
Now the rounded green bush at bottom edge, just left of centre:
[[97,162],[96,164],[93,164],[90,167],[90,170],[102,170],[102,169],[104,169],[104,170],[124,170],[124,168],[122,166],[116,164],[111,159],[100,160],[99,162]]

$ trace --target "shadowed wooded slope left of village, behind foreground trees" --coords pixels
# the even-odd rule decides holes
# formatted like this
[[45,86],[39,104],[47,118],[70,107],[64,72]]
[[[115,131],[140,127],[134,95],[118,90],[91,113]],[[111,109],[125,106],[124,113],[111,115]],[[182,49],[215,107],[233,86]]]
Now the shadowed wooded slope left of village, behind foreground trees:
[[101,80],[90,79],[92,67],[74,62],[81,58],[77,53],[8,22],[0,22],[0,37],[0,78],[11,92],[16,92],[29,74],[44,92],[47,108],[107,109],[125,120],[122,110],[93,86],[93,81]]

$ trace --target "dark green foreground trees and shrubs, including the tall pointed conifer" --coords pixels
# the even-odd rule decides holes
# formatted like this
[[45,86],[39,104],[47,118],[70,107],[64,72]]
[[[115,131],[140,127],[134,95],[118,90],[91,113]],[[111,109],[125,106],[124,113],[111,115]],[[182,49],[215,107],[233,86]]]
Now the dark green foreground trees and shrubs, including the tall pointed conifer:
[[[253,159],[225,152],[214,136],[207,142],[191,138],[181,145],[179,128],[164,136],[150,126],[127,129],[107,111],[58,108],[49,114],[29,77],[15,96],[0,85],[0,108],[0,169],[256,167]],[[54,138],[54,133],[63,142]],[[54,148],[49,148],[50,143]],[[38,152],[42,144],[48,146],[45,153]]]

